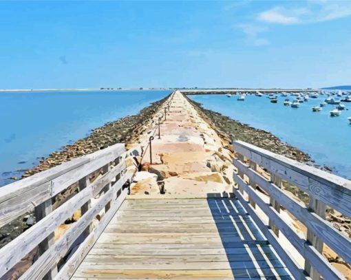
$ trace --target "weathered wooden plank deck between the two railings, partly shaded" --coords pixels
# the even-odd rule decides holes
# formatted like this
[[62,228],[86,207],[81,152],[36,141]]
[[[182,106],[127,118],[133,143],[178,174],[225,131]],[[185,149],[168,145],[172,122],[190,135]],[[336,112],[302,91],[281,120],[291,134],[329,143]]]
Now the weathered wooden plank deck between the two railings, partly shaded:
[[290,279],[235,198],[127,199],[73,279]]

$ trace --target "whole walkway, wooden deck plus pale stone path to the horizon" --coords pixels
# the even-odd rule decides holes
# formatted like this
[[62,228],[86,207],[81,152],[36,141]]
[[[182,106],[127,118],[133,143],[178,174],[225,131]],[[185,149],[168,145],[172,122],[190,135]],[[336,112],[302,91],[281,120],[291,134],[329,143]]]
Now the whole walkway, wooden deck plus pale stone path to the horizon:
[[153,136],[152,164],[148,150],[131,195],[73,278],[290,279],[231,195],[231,151],[178,91],[169,105],[160,139],[154,131],[163,108],[128,147],[140,162]]

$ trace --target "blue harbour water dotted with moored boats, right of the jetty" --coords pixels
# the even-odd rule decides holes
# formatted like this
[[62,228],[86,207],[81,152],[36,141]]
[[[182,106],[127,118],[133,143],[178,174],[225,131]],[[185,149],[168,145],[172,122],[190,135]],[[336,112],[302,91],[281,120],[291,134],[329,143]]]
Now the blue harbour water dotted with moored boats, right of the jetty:
[[308,153],[317,164],[331,166],[333,172],[351,178],[351,103],[343,103],[346,109],[339,117],[330,117],[329,111],[335,105],[326,105],[320,112],[312,112],[326,96],[310,98],[295,109],[284,106],[285,98],[291,101],[294,96],[279,96],[278,103],[270,103],[266,96],[246,96],[244,102],[237,96],[193,95],[191,100],[202,103],[204,108],[217,111],[234,120],[264,129],[284,142]]

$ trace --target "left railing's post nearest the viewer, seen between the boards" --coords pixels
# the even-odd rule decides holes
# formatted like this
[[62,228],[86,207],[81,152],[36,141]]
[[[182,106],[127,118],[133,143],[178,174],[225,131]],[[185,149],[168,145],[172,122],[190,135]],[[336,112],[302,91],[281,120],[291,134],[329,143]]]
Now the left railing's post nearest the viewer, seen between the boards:
[[[36,217],[36,222],[39,222],[43,217],[50,214],[52,212],[52,199],[46,200],[42,204],[39,204],[34,208],[34,215]],[[41,243],[39,244],[39,255],[43,255],[43,253],[54,244],[55,241],[55,233],[50,233]],[[43,277],[43,279],[54,279],[56,276],[57,264],[55,263],[52,268],[50,268],[49,272]]]

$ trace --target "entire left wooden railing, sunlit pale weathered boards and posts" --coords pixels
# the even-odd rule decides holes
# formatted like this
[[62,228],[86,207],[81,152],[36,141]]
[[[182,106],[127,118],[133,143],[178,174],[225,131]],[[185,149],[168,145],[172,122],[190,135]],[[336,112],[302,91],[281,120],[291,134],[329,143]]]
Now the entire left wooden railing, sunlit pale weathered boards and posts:
[[[0,188],[0,227],[25,213],[36,217],[33,226],[0,249],[0,279],[38,248],[39,258],[21,279],[72,276],[129,191],[124,152],[124,144],[115,144]],[[57,204],[56,195],[70,188],[74,193]],[[77,210],[81,218],[55,240],[54,230]]]

